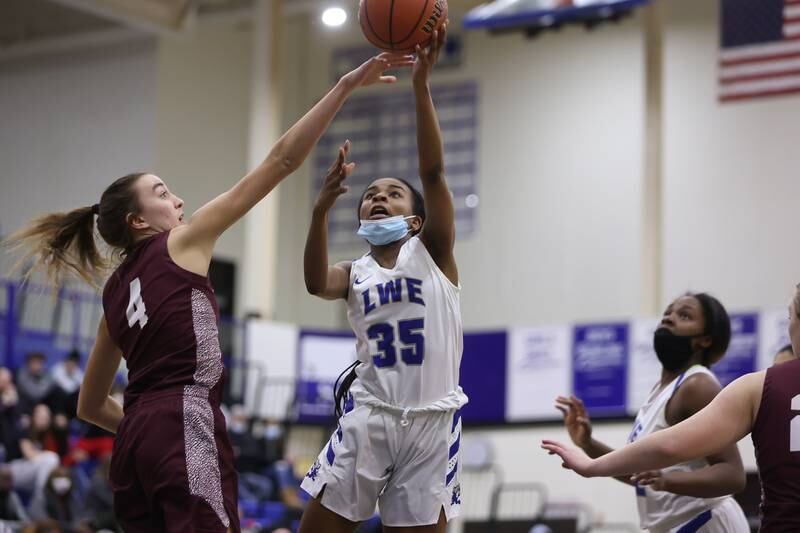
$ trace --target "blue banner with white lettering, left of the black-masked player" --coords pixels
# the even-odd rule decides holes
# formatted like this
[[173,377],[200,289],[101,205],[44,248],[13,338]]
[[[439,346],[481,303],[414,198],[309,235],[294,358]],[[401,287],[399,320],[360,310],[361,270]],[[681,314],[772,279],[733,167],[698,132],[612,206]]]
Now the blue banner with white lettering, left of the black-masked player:
[[578,325],[573,330],[572,389],[590,415],[626,414],[629,325]]

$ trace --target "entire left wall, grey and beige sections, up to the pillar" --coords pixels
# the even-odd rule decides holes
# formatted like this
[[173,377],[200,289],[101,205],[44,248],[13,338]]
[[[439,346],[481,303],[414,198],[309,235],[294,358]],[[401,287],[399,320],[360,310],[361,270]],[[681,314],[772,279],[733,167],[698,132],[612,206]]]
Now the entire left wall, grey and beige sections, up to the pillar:
[[[0,63],[0,235],[138,170],[188,212],[225,191],[247,169],[250,55],[248,25],[204,20],[158,42]],[[243,241],[237,224],[215,252],[239,263]]]

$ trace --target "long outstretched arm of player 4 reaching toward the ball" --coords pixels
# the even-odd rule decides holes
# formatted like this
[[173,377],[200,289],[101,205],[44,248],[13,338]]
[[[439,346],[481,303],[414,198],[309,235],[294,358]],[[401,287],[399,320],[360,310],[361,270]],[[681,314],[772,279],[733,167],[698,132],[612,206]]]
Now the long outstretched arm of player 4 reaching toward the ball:
[[199,247],[207,252],[210,261],[216,239],[303,163],[355,89],[375,83],[393,83],[396,78],[386,76],[385,71],[412,64],[411,56],[382,53],[344,75],[275,143],[258,167],[192,216],[180,237],[171,244],[171,251]]

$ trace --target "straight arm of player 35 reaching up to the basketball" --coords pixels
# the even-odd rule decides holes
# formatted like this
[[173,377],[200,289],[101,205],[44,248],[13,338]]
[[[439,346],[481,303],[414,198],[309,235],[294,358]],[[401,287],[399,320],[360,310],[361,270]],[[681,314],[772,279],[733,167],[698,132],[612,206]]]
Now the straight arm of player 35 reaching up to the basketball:
[[426,218],[420,239],[433,260],[454,284],[458,284],[458,268],[453,246],[455,244],[455,209],[453,197],[444,177],[444,147],[436,108],[433,105],[429,83],[430,73],[439,59],[447,37],[447,26],[434,31],[427,48],[417,45],[413,84],[417,108],[417,150],[419,151],[419,177],[425,196]]

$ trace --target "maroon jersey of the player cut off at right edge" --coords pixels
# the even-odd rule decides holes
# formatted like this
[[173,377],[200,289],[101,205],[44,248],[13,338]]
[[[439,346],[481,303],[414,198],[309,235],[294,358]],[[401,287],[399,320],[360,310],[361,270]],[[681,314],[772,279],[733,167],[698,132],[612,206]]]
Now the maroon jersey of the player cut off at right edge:
[[800,531],[800,361],[767,370],[752,437],[761,475],[761,531]]

